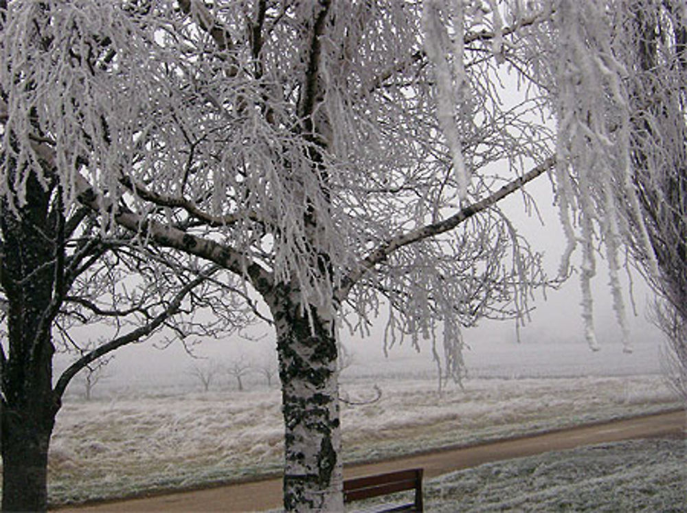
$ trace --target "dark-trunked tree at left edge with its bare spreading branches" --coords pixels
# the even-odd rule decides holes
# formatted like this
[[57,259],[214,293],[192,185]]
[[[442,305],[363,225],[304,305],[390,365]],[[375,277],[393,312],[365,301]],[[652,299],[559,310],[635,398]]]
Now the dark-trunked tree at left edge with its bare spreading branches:
[[[10,511],[45,510],[49,439],[76,376],[85,374],[88,396],[104,363],[124,345],[153,334],[168,340],[226,334],[247,322],[245,309],[218,293],[212,282],[220,274],[216,266],[150,266],[159,253],[128,242],[120,247],[123,239],[89,237],[85,231],[62,238],[45,225],[39,231],[36,205],[41,203],[34,197],[19,214],[0,210],[0,299],[6,305],[0,316],[2,497],[3,509]],[[62,285],[55,290],[58,280]],[[208,321],[207,310],[217,309],[218,301],[225,315]],[[45,310],[30,309],[35,303]],[[108,337],[95,341],[94,330]],[[69,365],[53,375],[55,352]]]

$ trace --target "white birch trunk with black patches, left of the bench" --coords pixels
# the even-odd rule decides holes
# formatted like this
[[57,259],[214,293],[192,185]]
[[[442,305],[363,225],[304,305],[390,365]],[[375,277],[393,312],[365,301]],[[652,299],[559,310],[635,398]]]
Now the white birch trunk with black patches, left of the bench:
[[[295,296],[295,295],[293,295]],[[333,313],[311,318],[288,293],[270,308],[277,330],[284,415],[284,508],[343,510],[337,341]]]

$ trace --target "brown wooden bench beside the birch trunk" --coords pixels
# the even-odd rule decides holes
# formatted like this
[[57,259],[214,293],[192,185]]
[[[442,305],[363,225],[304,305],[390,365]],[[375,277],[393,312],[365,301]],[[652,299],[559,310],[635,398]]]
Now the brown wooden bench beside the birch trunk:
[[380,497],[381,495],[405,490],[415,490],[412,503],[400,505],[382,505],[379,512],[423,511],[423,469],[411,468],[374,476],[356,477],[343,481],[343,502],[350,503]]

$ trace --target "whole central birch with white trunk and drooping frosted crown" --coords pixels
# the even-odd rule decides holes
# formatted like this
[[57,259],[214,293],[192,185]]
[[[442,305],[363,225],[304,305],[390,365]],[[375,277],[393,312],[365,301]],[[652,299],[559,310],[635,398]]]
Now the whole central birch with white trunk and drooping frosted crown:
[[550,172],[564,260],[583,249],[589,343],[599,235],[622,321],[616,193],[639,202],[605,8],[14,0],[0,14],[0,193],[12,212],[34,194],[85,205],[102,233],[209,260],[260,295],[284,506],[341,510],[337,330],[365,334],[385,312],[387,345],[427,340],[460,378],[461,328],[526,315],[546,283],[502,198]]

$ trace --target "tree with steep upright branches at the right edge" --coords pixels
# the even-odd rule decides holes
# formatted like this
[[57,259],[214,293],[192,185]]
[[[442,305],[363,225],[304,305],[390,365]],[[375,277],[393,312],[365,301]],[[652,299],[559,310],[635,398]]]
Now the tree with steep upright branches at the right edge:
[[624,8],[618,53],[631,69],[633,179],[653,255],[636,229],[629,247],[660,297],[653,319],[668,339],[668,379],[687,402],[687,5]]

